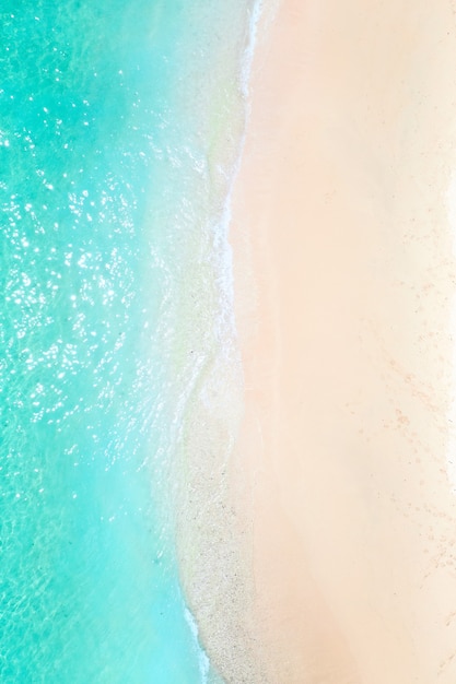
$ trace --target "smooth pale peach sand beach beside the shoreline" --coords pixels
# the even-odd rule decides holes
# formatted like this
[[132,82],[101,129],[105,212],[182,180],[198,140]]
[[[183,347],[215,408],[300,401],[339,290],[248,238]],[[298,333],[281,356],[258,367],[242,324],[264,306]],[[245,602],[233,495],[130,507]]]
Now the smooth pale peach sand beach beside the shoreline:
[[456,682],[452,5],[283,0],[257,52],[232,477],[261,683]]

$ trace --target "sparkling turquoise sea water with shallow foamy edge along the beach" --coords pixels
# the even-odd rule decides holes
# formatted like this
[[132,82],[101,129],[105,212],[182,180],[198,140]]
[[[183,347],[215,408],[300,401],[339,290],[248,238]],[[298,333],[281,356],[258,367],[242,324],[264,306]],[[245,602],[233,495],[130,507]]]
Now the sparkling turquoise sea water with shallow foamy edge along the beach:
[[231,334],[253,11],[0,8],[2,683],[215,677],[169,479],[191,384]]

